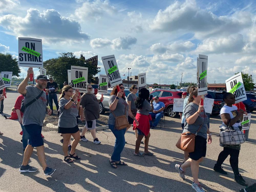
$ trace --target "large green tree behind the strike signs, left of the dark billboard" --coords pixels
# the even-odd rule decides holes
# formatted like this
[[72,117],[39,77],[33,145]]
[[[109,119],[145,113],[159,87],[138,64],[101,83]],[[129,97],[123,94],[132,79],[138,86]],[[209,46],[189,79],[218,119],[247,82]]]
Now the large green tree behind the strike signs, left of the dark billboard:
[[94,82],[93,76],[100,72],[97,67],[90,63],[85,63],[83,58],[76,58],[72,52],[61,53],[58,58],[52,58],[44,61],[44,68],[48,76],[54,77],[54,81],[60,84],[62,88],[63,82],[68,81],[68,72],[71,65],[88,67],[88,81]]

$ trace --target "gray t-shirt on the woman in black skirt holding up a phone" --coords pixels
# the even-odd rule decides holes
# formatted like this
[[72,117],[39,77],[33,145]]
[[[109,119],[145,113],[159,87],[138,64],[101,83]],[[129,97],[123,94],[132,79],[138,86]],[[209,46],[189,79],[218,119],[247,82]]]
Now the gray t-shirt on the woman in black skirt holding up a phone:
[[59,101],[60,116],[58,121],[58,126],[63,128],[73,128],[77,126],[77,105],[73,102],[69,109],[64,109],[65,105],[69,100],[62,97]]

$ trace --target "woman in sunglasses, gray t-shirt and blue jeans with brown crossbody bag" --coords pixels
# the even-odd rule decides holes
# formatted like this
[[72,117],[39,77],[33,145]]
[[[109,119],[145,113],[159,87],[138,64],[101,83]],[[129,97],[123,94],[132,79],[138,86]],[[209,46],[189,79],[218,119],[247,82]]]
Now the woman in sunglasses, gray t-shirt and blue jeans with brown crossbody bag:
[[[117,130],[115,129],[115,116],[121,116],[126,115],[128,118],[129,116],[134,119],[135,123],[138,125],[138,121],[133,116],[132,112],[129,110],[129,106],[126,103],[125,96],[124,96],[124,86],[123,84],[119,84],[120,91],[118,92],[117,86],[113,88],[113,90],[110,93],[109,97],[109,129],[112,131],[112,133],[115,135],[115,146],[112,156],[109,159],[109,163],[111,167],[116,168],[117,165],[127,165],[126,163],[121,161],[121,153],[123,151],[124,145],[125,145],[125,138],[124,134],[126,132],[126,129]],[[113,111],[113,113],[112,113]]]

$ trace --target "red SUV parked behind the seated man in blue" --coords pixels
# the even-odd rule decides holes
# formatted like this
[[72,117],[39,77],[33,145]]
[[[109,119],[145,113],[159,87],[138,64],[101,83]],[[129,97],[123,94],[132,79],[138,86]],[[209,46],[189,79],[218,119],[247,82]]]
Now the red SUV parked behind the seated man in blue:
[[178,112],[173,111],[173,99],[181,98],[183,92],[177,90],[166,90],[160,89],[157,91],[153,91],[150,95],[159,97],[159,101],[165,104],[165,112],[168,114],[169,117],[175,117]]

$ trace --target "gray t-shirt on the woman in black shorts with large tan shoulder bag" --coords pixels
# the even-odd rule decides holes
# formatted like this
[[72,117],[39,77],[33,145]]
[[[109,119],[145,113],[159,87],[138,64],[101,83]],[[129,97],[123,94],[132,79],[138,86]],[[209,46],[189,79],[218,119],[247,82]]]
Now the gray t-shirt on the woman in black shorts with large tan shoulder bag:
[[[184,116],[185,118],[189,118],[191,115],[194,115],[197,110],[198,110],[198,105],[191,102],[187,104],[185,111],[184,111]],[[195,123],[193,124],[188,124],[187,121],[185,120],[185,125],[184,125],[184,130],[183,133],[189,131],[190,133],[196,133],[196,131],[199,129],[200,125],[202,124],[202,127],[200,131],[197,133],[197,135],[204,137],[207,139],[207,123],[208,123],[208,117],[207,114],[205,113],[205,110],[202,111],[199,116],[197,117]]]

